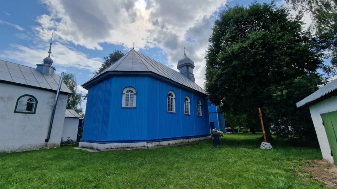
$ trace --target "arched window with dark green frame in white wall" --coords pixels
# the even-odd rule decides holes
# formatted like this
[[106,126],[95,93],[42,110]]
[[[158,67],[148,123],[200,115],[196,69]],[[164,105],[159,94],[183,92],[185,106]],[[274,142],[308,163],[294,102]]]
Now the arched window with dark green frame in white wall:
[[35,114],[37,100],[32,95],[22,95],[18,98],[14,113]]

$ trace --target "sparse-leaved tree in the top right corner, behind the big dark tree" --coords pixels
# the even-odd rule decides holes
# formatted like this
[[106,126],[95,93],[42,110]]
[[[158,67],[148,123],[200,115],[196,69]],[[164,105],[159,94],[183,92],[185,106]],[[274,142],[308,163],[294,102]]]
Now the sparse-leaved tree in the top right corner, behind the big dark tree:
[[336,74],[337,69],[337,0],[286,0],[300,14],[308,12],[313,24],[311,28],[319,38],[321,47],[330,53],[331,64],[324,69]]

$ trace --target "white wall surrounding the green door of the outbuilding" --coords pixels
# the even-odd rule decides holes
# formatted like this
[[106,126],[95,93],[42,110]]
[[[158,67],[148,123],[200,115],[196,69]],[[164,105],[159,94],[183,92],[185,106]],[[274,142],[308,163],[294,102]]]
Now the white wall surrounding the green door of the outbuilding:
[[322,156],[324,159],[327,159],[331,163],[333,163],[334,160],[330,154],[331,149],[329,146],[328,137],[325,132],[323,120],[320,117],[320,114],[336,111],[337,110],[337,97],[332,97],[330,99],[321,101],[317,104],[310,106],[309,109],[310,109],[312,122],[314,123],[314,126],[315,126],[317,139],[319,142],[320,150],[322,152]]

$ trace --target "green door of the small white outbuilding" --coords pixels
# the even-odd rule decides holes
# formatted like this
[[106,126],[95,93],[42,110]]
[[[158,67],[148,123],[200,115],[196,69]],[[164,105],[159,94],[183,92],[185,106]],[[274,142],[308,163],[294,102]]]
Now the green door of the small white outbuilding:
[[337,111],[320,114],[327,133],[334,164],[337,165]]

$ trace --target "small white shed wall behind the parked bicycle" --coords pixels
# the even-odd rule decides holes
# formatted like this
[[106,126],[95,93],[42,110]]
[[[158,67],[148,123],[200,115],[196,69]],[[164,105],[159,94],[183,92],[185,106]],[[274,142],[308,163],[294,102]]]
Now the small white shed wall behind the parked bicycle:
[[64,125],[63,125],[63,131],[62,131],[62,137],[64,141],[69,139],[73,140],[74,143],[77,139],[77,131],[79,128],[79,118],[73,118],[73,117],[65,117],[64,118]]

